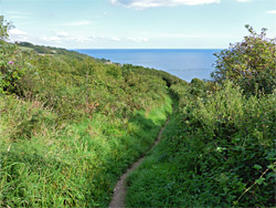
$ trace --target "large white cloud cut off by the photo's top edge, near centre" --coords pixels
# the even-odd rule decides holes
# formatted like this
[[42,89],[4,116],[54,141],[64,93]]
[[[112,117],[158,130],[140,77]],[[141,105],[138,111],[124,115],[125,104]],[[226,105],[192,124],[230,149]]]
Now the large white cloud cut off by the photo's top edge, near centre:
[[136,9],[147,9],[157,7],[173,7],[173,6],[198,6],[205,3],[220,3],[221,0],[110,0],[112,3],[119,3],[126,7]]

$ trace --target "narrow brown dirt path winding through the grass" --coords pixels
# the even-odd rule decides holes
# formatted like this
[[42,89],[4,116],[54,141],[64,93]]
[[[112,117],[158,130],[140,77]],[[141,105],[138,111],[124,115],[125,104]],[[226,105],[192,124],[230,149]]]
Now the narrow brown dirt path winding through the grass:
[[[152,150],[158,143],[161,141],[161,136],[163,133],[163,129],[166,127],[166,125],[170,122],[170,118],[167,119],[164,126],[160,129],[159,135],[153,144],[153,146],[151,147],[150,150]],[[134,171],[144,160],[145,156],[141,157],[140,159],[138,159],[136,163],[134,163],[128,169],[127,171],[119,178],[119,180],[117,181],[113,193],[113,200],[109,204],[109,208],[121,208],[125,207],[125,197],[127,194],[127,187],[126,187],[126,178],[129,176],[129,174],[131,171]]]

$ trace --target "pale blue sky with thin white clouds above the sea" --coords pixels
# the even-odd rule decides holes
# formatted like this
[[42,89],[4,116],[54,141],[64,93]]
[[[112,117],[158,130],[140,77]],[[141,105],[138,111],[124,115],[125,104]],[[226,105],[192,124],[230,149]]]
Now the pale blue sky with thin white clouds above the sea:
[[226,49],[267,28],[276,0],[0,0],[11,41],[66,49]]

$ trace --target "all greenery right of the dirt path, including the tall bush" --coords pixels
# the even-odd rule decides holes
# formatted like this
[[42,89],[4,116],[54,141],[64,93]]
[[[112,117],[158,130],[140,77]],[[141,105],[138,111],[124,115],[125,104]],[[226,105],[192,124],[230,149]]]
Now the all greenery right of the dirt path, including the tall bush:
[[[129,207],[276,205],[276,45],[250,30],[245,51],[237,43],[216,54],[220,85],[194,79],[171,86],[178,111],[160,146],[128,178]],[[240,66],[250,75],[232,74]]]

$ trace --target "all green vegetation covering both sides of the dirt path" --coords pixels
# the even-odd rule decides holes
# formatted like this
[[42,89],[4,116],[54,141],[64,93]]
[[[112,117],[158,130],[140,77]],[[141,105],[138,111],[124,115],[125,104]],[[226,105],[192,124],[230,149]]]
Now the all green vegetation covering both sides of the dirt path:
[[276,46],[265,30],[247,27],[244,42],[217,53],[213,81],[185,83],[11,44],[10,27],[1,17],[0,207],[107,206],[170,114],[128,178],[128,206],[275,206]]

